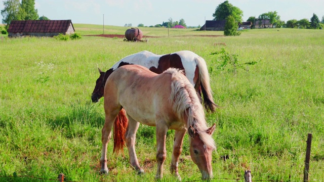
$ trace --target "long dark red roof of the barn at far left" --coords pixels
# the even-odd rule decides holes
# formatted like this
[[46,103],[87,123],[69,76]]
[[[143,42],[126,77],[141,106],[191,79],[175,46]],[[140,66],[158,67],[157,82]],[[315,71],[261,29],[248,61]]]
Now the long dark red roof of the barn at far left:
[[70,25],[74,30],[71,20],[13,20],[9,25],[8,32],[67,32]]

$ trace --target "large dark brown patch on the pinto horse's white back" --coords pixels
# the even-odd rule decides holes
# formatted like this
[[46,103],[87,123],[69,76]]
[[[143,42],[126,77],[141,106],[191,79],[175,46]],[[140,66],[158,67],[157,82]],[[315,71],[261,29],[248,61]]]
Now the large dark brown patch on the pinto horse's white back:
[[[177,54],[167,54],[164,56],[161,56],[160,59],[158,60],[158,66],[157,68],[155,67],[150,67],[149,70],[161,74],[162,72],[166,71],[169,68],[177,68],[180,70],[184,70],[184,67],[181,62],[181,58]],[[184,74],[185,71],[183,71]]]

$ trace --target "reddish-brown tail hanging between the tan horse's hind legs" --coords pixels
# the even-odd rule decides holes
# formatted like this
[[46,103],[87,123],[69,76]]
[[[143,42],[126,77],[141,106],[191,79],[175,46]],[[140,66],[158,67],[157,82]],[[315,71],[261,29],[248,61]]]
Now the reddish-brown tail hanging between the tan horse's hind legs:
[[125,109],[121,109],[113,123],[113,153],[123,151],[128,118]]

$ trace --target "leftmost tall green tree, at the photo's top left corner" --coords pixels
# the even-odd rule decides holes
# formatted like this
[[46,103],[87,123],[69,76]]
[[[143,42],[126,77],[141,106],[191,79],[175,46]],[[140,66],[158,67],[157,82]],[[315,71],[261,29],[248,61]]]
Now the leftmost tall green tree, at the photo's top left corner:
[[22,12],[22,9],[19,0],[4,1],[4,9],[1,10],[1,15],[4,17],[2,23],[6,24],[5,29],[8,30],[11,21],[22,20],[20,12]]

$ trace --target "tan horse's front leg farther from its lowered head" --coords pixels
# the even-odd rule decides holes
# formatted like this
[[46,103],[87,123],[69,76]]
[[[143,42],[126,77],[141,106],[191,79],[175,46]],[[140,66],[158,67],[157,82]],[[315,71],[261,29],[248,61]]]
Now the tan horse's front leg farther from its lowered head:
[[[164,123],[161,121],[159,123]],[[156,153],[156,161],[157,161],[157,171],[155,178],[160,179],[163,177],[163,164],[167,158],[167,150],[166,150],[166,136],[168,132],[168,127],[166,125],[156,125],[156,145],[157,145],[157,153]]]

